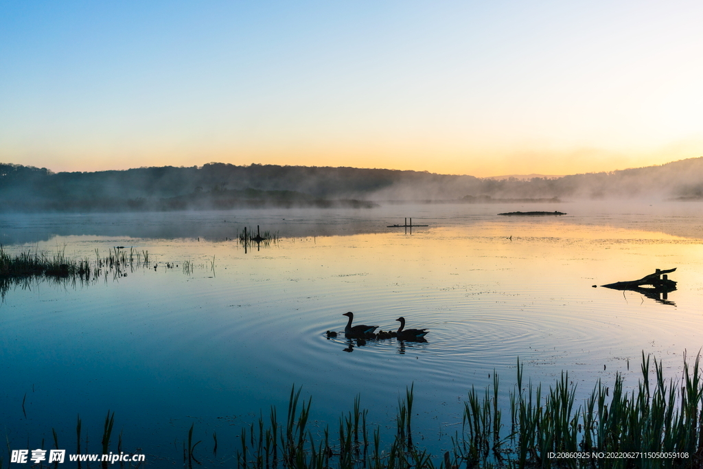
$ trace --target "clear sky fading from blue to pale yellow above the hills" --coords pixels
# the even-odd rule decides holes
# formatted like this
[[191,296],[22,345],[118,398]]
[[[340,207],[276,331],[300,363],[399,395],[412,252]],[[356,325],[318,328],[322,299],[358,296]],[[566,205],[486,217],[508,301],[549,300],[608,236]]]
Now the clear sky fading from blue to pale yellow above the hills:
[[0,0],[0,162],[576,174],[703,156],[700,1]]

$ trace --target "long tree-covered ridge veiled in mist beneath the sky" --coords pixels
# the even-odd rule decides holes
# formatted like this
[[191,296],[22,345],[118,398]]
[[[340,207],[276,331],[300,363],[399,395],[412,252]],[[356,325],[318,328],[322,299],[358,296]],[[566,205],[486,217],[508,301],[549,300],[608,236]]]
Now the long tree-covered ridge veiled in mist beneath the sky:
[[703,158],[529,181],[351,167],[209,163],[53,173],[0,164],[2,211],[370,206],[364,201],[501,198],[703,198]]

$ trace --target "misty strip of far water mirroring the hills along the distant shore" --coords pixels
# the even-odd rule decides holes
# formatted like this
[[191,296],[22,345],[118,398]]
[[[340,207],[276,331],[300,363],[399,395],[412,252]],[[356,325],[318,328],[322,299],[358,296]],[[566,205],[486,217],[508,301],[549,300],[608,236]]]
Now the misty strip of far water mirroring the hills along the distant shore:
[[[258,224],[284,238],[309,236],[348,236],[359,233],[385,233],[387,225],[415,224],[433,226],[470,225],[501,220],[500,212],[544,210],[567,215],[561,224],[641,228],[674,236],[699,238],[702,204],[673,201],[612,201],[564,203],[397,203],[364,209],[259,209],[207,210],[184,212],[117,213],[41,213],[0,214],[0,243],[5,246],[32,245],[55,248],[55,236],[106,236],[115,238],[234,238],[244,227]],[[412,217],[410,217],[412,216]],[[534,220],[533,220],[534,221]],[[543,221],[536,221],[543,223]],[[46,244],[43,244],[46,243]]]

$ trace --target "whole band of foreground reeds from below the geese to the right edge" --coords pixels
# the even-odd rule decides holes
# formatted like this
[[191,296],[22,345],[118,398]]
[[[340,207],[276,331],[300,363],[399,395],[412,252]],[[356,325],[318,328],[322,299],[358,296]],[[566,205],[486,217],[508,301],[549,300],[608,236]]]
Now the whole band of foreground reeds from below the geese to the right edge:
[[[684,359],[685,361],[685,359]],[[653,364],[653,375],[650,368]],[[703,383],[699,359],[684,363],[680,381],[663,378],[662,363],[642,357],[643,377],[631,391],[617,375],[611,386],[600,380],[583,405],[562,373],[548,390],[517,384],[503,415],[498,378],[484,392],[471,390],[463,425],[451,449],[430,455],[413,444],[412,387],[399,399],[396,434],[381,447],[379,428],[369,434],[367,412],[354,409],[339,428],[315,437],[307,428],[311,401],[291,391],[285,421],[272,408],[240,435],[239,468],[700,468],[703,467]],[[652,383],[650,383],[650,379]],[[579,454],[579,456],[576,456]],[[561,457],[560,457],[561,456]],[[564,457],[566,456],[566,457]],[[587,457],[586,457],[587,456]],[[191,463],[191,461],[187,461]]]

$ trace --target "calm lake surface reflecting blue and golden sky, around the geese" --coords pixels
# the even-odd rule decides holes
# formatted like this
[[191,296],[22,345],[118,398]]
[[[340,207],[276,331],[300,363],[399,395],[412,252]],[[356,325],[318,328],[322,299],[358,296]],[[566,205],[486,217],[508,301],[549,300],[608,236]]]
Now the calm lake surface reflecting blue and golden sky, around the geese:
[[[44,438],[75,447],[75,420],[97,450],[115,411],[124,446],[180,461],[195,423],[219,455],[243,425],[285,412],[291,386],[313,397],[316,427],[334,428],[354,397],[392,428],[397,399],[415,387],[415,430],[438,451],[458,430],[467,390],[501,377],[501,395],[561,371],[579,398],[616,373],[636,385],[642,352],[678,377],[703,346],[703,207],[420,205],[363,211],[3,216],[9,252],[149,252],[148,268],[91,285],[32,282],[0,305],[0,419],[13,448]],[[498,217],[561,210],[564,217]],[[389,229],[403,222],[427,228]],[[278,231],[259,250],[232,240],[243,226]],[[214,269],[212,260],[214,258]],[[183,262],[194,266],[183,271]],[[177,264],[168,268],[167,263]],[[154,266],[156,268],[154,269]],[[593,288],[655,268],[677,271],[668,304]],[[325,337],[355,320],[429,328],[426,343]],[[629,370],[628,370],[629,363]],[[26,394],[25,411],[22,399]],[[506,401],[507,402],[507,401]],[[389,430],[390,434],[390,430]],[[52,442],[49,444],[48,442]],[[69,444],[70,443],[70,444]],[[227,456],[207,463],[227,464]]]

